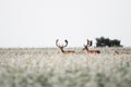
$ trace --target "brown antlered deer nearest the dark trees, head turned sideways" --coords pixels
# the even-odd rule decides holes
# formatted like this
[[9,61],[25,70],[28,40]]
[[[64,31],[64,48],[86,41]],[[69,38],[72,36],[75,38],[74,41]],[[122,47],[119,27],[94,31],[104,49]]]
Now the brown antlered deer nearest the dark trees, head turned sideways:
[[87,44],[84,45],[83,51],[85,51],[86,53],[94,53],[94,54],[100,53],[99,50],[88,50],[87,48],[88,46],[92,46],[92,41],[87,39]]

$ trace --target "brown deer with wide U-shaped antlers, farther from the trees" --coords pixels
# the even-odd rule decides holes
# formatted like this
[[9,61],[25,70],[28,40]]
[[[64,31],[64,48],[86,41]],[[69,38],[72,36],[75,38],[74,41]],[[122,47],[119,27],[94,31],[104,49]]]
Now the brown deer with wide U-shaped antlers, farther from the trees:
[[63,46],[63,45],[62,45],[62,46],[58,45],[58,41],[59,41],[59,39],[56,40],[56,46],[60,49],[60,51],[61,51],[63,54],[74,53],[74,51],[71,51],[71,50],[69,50],[69,51],[64,51],[64,50],[63,50],[63,48],[68,46],[68,40],[67,40],[67,39],[64,40],[64,41],[66,41],[66,45],[64,45],[64,46]]

